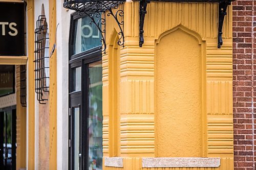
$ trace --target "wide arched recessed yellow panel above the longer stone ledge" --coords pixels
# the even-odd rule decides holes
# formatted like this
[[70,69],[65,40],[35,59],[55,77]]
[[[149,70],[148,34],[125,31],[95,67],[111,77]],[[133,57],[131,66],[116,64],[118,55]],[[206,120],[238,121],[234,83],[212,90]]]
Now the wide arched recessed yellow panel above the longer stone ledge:
[[157,157],[201,157],[201,44],[183,29],[157,43],[156,104]]

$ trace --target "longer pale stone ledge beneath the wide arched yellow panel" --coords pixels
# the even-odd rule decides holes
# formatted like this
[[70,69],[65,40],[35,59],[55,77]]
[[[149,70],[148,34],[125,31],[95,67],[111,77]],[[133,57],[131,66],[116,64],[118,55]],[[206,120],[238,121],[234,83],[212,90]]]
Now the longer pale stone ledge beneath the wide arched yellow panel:
[[220,158],[142,158],[142,167],[219,167]]

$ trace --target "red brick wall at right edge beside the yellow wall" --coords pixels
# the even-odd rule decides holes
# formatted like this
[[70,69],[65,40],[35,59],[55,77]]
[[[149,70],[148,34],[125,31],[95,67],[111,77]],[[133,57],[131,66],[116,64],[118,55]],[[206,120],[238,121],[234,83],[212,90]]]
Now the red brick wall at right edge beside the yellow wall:
[[233,2],[233,122],[236,170],[256,169],[256,108],[254,109],[256,39],[254,37],[256,37],[256,1]]

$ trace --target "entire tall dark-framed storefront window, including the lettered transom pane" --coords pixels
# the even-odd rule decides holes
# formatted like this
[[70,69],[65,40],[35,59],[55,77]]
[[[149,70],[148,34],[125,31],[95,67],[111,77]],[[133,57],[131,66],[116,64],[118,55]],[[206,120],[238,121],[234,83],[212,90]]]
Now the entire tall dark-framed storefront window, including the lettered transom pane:
[[71,19],[69,169],[102,170],[101,35],[90,17]]

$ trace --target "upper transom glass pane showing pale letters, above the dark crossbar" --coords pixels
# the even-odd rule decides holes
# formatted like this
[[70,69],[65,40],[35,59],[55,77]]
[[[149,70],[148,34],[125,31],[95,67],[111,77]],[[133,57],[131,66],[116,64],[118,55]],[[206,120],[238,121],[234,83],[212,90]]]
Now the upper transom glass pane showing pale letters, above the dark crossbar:
[[[74,41],[72,55],[78,54],[101,45],[101,34],[89,16],[74,21]],[[99,26],[101,27],[101,25]]]

